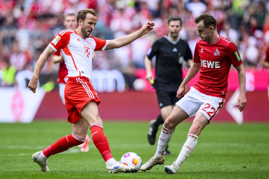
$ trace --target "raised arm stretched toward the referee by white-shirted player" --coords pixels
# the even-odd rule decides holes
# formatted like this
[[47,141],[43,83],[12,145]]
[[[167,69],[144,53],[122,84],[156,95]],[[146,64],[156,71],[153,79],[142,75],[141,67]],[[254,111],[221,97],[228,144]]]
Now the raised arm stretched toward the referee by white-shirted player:
[[154,22],[149,21],[145,23],[140,30],[137,30],[132,34],[124,35],[122,37],[115,38],[114,40],[108,40],[108,45],[106,46],[105,50],[126,46],[134,40],[140,38],[142,35],[147,34],[150,30],[153,29],[153,26],[155,26]]

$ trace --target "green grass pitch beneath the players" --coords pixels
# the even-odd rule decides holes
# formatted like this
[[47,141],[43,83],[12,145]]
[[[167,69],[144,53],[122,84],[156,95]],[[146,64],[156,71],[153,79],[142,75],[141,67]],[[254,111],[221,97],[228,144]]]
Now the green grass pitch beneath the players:
[[[176,127],[169,144],[173,155],[165,156],[165,165],[177,158],[190,125],[183,122]],[[148,161],[157,147],[157,142],[149,145],[147,141],[148,128],[145,121],[104,121],[114,158],[119,161],[124,153],[135,152],[142,164]],[[269,178],[269,123],[213,121],[202,131],[196,148],[176,174],[165,173],[164,165],[146,172],[107,173],[92,141],[89,152],[82,153],[75,146],[51,156],[47,164],[51,172],[41,172],[31,160],[32,154],[70,133],[71,125],[63,121],[1,123],[0,178]]]

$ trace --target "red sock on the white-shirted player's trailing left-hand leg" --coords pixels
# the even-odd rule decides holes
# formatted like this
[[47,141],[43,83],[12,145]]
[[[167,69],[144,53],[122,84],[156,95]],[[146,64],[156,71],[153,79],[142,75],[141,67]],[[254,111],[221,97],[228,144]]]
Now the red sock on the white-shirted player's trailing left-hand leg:
[[[72,135],[74,135],[76,138],[79,137],[79,139],[82,141],[77,140]],[[74,147],[76,145],[79,145],[79,144],[82,144],[85,142],[85,140],[83,141],[83,139],[86,137],[80,137],[76,134],[72,134],[72,135],[70,134],[67,136],[63,136],[62,138],[59,138],[59,140],[56,141],[54,144],[52,144],[52,145],[48,146],[46,149],[42,150],[45,157],[48,158],[51,155],[66,151],[71,147]]]

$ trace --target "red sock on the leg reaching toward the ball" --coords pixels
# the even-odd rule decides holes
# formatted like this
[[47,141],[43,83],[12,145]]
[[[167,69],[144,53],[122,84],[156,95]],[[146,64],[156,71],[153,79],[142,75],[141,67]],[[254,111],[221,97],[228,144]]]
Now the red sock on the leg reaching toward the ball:
[[104,135],[103,131],[103,125],[95,123],[90,126],[91,132],[92,132],[92,141],[96,148],[101,153],[102,157],[104,158],[104,161],[108,161],[109,159],[113,158],[108,139]]

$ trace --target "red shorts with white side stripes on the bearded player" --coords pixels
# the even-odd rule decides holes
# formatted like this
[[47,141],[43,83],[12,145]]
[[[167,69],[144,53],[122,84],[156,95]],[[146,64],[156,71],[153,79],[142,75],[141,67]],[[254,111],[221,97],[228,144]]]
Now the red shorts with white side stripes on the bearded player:
[[81,118],[81,109],[89,101],[96,101],[99,105],[100,100],[92,84],[86,77],[69,78],[64,89],[65,105],[67,107],[67,121],[76,122]]

